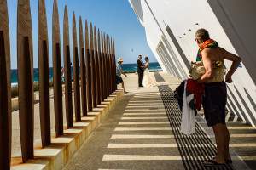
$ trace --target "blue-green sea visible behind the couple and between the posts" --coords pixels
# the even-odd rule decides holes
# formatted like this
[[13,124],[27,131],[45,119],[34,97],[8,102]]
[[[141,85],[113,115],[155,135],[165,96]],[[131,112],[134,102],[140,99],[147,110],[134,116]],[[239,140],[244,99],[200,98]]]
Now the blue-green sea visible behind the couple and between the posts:
[[[137,71],[136,64],[122,64],[123,71]],[[158,62],[150,63],[149,70],[161,70],[161,67]],[[72,75],[73,75],[73,67],[71,68]],[[53,78],[53,68],[49,68],[49,79]],[[13,69],[11,70],[11,82],[12,86],[18,83],[18,70]],[[34,82],[38,82],[38,68],[34,69]]]

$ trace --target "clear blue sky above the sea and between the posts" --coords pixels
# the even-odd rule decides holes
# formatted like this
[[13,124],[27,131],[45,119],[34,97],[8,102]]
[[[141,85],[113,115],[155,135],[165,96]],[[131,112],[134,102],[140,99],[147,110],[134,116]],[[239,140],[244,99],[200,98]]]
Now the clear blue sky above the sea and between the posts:
[[[52,12],[53,0],[45,0],[49,36],[49,66],[52,66]],[[11,66],[17,68],[17,3],[18,0],[7,0],[9,9],[9,30],[11,48]],[[34,68],[38,68],[38,0],[31,0],[33,59]],[[105,31],[115,39],[116,58],[122,57],[125,63],[136,63],[137,56],[148,56],[149,60],[156,61],[154,54],[148,47],[143,26],[128,0],[57,0],[61,26],[61,48],[63,43],[64,8],[67,5],[70,29],[70,44],[72,44],[72,15],[76,14],[78,41],[79,15],[82,16],[83,26],[85,19],[93,26]],[[78,43],[79,44],[79,43]],[[133,52],[131,52],[133,49]],[[71,48],[72,50],[72,48]],[[63,54],[63,52],[61,52]],[[72,51],[71,51],[72,54]],[[61,56],[63,65],[63,55]],[[73,60],[73,59],[71,59]]]

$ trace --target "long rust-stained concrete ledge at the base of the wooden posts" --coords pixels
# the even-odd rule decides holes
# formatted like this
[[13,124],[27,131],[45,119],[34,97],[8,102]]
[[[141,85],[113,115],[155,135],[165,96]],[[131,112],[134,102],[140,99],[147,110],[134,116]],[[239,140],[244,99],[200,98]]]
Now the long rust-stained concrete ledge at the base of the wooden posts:
[[88,116],[83,116],[81,122],[74,122],[73,128],[64,130],[63,136],[55,138],[55,133],[52,133],[50,146],[42,149],[40,144],[35,144],[33,160],[22,163],[21,155],[12,157],[11,169],[62,169],[123,95],[123,90],[115,91],[101,105],[88,112]]

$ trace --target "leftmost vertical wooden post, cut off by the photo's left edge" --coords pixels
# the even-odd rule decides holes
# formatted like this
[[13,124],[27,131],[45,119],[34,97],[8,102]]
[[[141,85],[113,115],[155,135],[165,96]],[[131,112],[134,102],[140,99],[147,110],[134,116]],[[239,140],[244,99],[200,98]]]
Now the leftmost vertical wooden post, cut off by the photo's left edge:
[[7,0],[1,1],[0,8],[0,169],[8,170],[12,144],[12,112]]

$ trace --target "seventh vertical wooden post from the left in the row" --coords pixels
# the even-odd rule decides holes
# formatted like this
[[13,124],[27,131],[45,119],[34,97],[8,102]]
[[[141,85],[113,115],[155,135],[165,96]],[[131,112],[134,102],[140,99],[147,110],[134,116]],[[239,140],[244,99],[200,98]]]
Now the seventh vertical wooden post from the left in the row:
[[85,60],[84,60],[84,34],[82,17],[79,18],[79,48],[80,48],[80,74],[81,74],[81,96],[82,96],[82,113],[87,115],[87,100],[86,100],[86,76],[85,76]]

